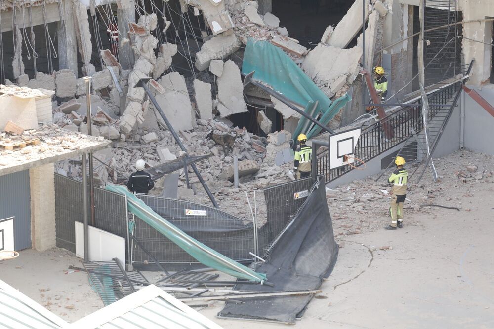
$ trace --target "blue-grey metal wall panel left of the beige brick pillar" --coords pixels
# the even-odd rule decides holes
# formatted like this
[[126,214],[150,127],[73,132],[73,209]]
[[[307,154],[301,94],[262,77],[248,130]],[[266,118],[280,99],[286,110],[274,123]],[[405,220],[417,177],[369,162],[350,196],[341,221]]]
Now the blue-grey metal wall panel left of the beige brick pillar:
[[0,218],[15,216],[15,250],[31,248],[29,170],[0,176]]

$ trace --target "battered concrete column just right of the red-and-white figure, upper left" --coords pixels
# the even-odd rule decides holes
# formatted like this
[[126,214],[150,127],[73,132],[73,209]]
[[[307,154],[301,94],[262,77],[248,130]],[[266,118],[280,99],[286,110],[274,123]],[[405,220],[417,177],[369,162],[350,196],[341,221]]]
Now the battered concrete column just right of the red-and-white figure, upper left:
[[122,46],[122,40],[128,37],[128,23],[135,23],[135,3],[134,0],[122,0],[120,4],[121,7],[117,10],[118,27],[122,33],[119,34],[119,62],[123,69],[131,69],[134,65],[134,53],[129,43]]

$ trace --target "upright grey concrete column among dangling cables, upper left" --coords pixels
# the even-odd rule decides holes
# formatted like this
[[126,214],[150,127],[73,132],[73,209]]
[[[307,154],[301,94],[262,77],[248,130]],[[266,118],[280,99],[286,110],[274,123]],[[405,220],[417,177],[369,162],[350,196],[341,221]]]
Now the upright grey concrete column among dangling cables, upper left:
[[62,1],[62,16],[58,22],[58,68],[69,69],[77,77],[77,37],[74,28],[74,5]]

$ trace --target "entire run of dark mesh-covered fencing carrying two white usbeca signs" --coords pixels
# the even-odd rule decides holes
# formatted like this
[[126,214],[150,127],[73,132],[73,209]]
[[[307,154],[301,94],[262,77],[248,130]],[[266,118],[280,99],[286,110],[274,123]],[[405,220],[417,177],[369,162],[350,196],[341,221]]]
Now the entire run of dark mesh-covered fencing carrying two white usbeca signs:
[[[273,243],[305,202],[311,185],[311,179],[307,178],[255,191],[254,200],[249,199],[255,220],[188,201],[144,194],[138,197],[161,217],[206,246],[233,260],[250,263],[254,260],[252,254],[269,255]],[[83,222],[82,193],[82,183],[55,175],[57,247],[72,252],[76,249],[75,222]],[[94,198],[95,226],[125,238],[126,259],[136,268],[157,269],[153,258],[167,270],[202,266],[142,219],[129,214],[123,195],[95,188]],[[142,247],[129,243],[128,234],[133,234]]]

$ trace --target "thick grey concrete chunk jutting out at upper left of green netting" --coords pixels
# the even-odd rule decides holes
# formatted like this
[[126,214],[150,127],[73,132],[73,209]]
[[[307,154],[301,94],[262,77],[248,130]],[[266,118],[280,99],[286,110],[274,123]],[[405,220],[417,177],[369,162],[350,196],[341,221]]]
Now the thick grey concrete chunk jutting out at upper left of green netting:
[[196,53],[196,68],[204,71],[213,59],[223,59],[239,49],[241,42],[235,34],[219,35],[207,40]]

